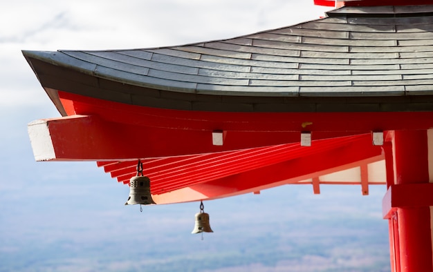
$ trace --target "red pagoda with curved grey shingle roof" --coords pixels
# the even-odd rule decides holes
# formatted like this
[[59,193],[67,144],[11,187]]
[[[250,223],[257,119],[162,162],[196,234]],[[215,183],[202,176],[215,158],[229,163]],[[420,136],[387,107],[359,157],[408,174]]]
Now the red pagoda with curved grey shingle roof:
[[315,0],[322,19],[134,50],[23,51],[62,115],[37,161],[95,161],[156,204],[284,184],[387,186],[391,270],[433,271],[433,5]]

